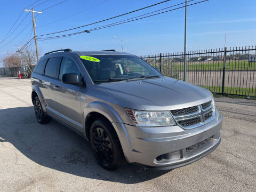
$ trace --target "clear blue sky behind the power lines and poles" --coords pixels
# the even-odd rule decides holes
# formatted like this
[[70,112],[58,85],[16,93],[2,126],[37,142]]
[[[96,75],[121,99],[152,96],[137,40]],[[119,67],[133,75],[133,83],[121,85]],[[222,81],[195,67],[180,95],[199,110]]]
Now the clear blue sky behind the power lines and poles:
[[[36,4],[44,1],[45,0],[41,0]],[[35,10],[43,10],[46,7],[61,1],[62,0],[49,0],[46,3],[35,7]],[[51,9],[43,11],[43,14],[38,15],[36,21],[37,35],[86,25],[87,23],[114,17],[115,15],[139,9],[140,7],[158,3],[160,1],[161,0],[67,0],[66,2],[52,7]],[[21,13],[22,9],[33,2],[35,2],[35,0],[1,1],[1,40],[9,31],[14,21],[18,18],[18,15]],[[75,33],[84,29],[91,29],[94,27],[107,25],[111,22],[135,17],[138,14],[145,14],[182,2],[184,1],[172,0],[140,12],[125,15],[121,18],[98,23],[97,25],[93,26],[87,26],[82,29],[68,31],[67,33]],[[198,0],[194,2],[198,2]],[[101,4],[91,7],[99,3]],[[88,7],[91,8],[85,10]],[[228,47],[256,45],[255,7],[255,0],[210,0],[201,4],[189,6],[187,50],[195,51],[223,47],[225,33],[227,34]],[[73,15],[77,12],[80,13]],[[21,19],[24,18],[26,14],[27,13],[24,12]],[[69,15],[73,16],[63,19]],[[118,39],[113,38],[115,35],[123,39],[124,51],[136,55],[179,52],[183,50],[184,16],[185,8],[182,8],[139,21],[133,21],[106,29],[95,30],[90,34],[84,33],[65,38],[52,39],[51,41],[41,41],[38,42],[39,52],[41,55],[43,55],[45,52],[60,48],[71,48],[72,50],[120,50],[121,43]],[[63,20],[44,26],[60,19]],[[9,53],[16,51],[17,47],[22,46],[28,41],[28,39],[34,36],[32,33],[31,23],[31,25],[23,30],[22,33],[11,43],[2,47],[15,35],[20,33],[22,28],[24,28],[31,20],[30,13],[22,25],[14,31],[10,38],[8,38],[4,43],[0,44],[0,60],[4,57],[7,51]]]

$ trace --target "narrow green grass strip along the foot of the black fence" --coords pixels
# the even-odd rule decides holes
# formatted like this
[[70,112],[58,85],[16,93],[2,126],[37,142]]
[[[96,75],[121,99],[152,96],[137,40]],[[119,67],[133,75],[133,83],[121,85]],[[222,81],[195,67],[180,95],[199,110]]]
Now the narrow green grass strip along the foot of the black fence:
[[[213,93],[221,93],[221,86],[202,86]],[[236,95],[248,95],[250,97],[256,97],[256,89],[243,88],[243,87],[225,87],[224,93],[226,94],[236,94]]]

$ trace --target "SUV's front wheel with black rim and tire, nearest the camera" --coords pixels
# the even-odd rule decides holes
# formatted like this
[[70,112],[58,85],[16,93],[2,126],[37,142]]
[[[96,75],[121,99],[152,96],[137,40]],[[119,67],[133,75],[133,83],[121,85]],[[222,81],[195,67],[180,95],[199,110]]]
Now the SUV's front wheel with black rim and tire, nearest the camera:
[[100,118],[93,122],[90,129],[90,143],[94,156],[103,168],[114,171],[125,164],[118,136],[106,119]]

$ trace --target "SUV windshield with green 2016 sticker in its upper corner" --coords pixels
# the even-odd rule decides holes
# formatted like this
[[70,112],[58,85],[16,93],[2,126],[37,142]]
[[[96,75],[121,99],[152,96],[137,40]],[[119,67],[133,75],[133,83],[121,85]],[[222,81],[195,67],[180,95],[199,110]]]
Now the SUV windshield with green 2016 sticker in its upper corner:
[[134,55],[84,55],[80,58],[94,83],[163,76],[147,62]]

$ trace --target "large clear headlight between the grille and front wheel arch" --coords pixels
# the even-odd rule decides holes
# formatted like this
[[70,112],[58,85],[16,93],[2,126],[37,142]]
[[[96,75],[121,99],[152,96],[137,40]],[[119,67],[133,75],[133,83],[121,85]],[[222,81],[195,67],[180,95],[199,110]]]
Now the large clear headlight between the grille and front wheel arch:
[[176,125],[169,111],[137,111],[125,109],[126,113],[138,126],[172,126]]

